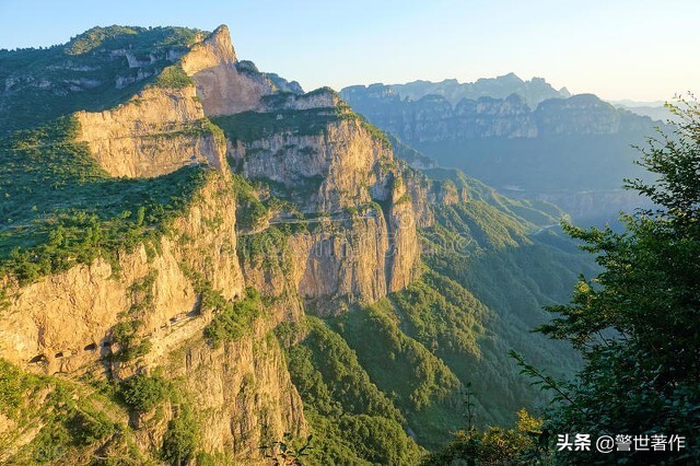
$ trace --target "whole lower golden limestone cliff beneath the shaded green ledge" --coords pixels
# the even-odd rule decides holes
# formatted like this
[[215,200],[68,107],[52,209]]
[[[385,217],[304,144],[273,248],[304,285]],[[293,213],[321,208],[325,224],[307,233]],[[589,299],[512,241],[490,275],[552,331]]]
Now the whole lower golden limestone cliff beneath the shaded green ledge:
[[[120,254],[118,269],[104,260],[78,266],[24,288],[13,287],[0,325],[0,354],[24,370],[113,377],[165,368],[177,378],[201,429],[201,446],[230,458],[255,458],[260,442],[305,432],[302,404],[270,331],[299,318],[294,299],[278,300],[243,338],[212,349],[202,329],[215,317],[198,292],[201,281],[228,300],[243,295],[236,254],[235,198],[218,172],[173,232],[156,244]],[[135,308],[144,310],[138,316]],[[115,328],[138,317],[136,338],[149,341],[136,360],[119,358]],[[115,358],[116,357],[116,358]],[[167,420],[143,413],[124,418],[139,448],[158,451]],[[37,432],[26,431],[31,442]],[[77,459],[78,461],[78,459]]]

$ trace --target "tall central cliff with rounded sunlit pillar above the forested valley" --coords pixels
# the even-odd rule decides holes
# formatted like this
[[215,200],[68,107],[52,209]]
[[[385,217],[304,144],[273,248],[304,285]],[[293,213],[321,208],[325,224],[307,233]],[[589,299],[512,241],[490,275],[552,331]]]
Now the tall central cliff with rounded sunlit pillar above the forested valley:
[[[290,251],[298,291],[322,314],[369,304],[405,288],[416,277],[418,263],[419,213],[390,144],[359,118],[342,110],[336,115],[336,107],[326,106],[335,102],[330,92],[268,100],[270,121],[294,118],[289,110],[298,105],[293,112],[303,115],[303,125],[313,131],[272,125],[234,141],[237,128],[249,123],[243,118],[224,126],[229,153],[241,173],[271,184],[276,196],[314,219],[307,232],[290,238]],[[313,103],[324,106],[314,109]],[[287,221],[282,211],[271,223]]]

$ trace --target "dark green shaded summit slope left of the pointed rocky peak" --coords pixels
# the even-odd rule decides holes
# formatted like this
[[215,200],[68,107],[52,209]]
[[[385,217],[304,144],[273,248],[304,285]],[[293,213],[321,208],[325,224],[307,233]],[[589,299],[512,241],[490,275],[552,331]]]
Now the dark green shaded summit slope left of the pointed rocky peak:
[[0,50],[0,136],[127,101],[202,34],[185,27],[93,27],[66,45]]

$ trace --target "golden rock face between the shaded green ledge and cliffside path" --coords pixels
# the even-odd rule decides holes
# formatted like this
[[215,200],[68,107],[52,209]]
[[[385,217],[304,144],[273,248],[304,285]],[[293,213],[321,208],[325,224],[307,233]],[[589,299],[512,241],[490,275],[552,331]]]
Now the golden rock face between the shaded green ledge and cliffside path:
[[[174,330],[171,319],[197,310],[187,269],[198,270],[226,298],[241,296],[232,190],[220,175],[211,178],[189,214],[175,222],[174,237],[160,240],[155,257],[141,245],[120,255],[119,271],[97,260],[12,290],[12,312],[0,326],[2,358],[22,365],[34,361],[34,369],[51,374],[97,361],[109,352],[112,327],[138,300],[133,286],[144,282],[152,300],[141,334],[158,347]],[[215,230],[213,222],[221,222]]]

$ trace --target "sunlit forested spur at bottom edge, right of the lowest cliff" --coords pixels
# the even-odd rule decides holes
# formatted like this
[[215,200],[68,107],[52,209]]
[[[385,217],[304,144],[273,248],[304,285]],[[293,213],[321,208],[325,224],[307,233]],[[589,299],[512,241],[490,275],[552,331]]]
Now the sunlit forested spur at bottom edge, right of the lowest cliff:
[[[354,352],[320,321],[287,324],[285,343],[292,381],[314,432],[312,464],[417,464],[423,451],[406,434],[405,418],[370,381]],[[301,335],[303,337],[303,335]]]

